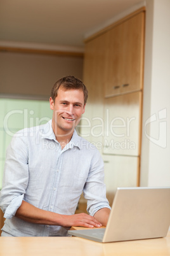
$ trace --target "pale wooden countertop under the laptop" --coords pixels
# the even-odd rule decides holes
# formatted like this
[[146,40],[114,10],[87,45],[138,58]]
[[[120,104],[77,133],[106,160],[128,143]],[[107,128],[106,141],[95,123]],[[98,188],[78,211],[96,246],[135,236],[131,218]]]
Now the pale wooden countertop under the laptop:
[[97,243],[75,237],[0,238],[1,256],[107,256],[170,255],[170,231],[166,238]]

